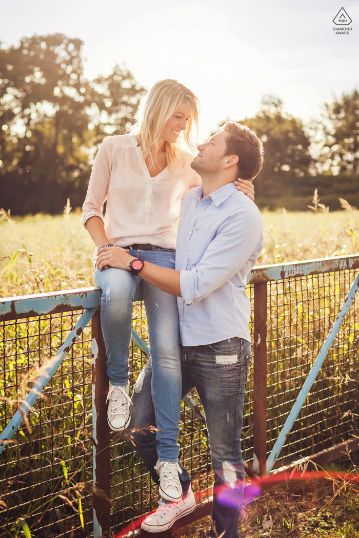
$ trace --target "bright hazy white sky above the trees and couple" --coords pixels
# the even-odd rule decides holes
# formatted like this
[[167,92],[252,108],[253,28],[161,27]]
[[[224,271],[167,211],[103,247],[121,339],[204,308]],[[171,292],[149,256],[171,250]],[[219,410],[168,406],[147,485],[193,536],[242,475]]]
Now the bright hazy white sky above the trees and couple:
[[[335,34],[344,8],[349,34]],[[308,122],[358,88],[359,0],[0,0],[2,47],[33,34],[80,38],[85,76],[125,64],[146,89],[177,79],[201,103],[199,141],[275,95]]]

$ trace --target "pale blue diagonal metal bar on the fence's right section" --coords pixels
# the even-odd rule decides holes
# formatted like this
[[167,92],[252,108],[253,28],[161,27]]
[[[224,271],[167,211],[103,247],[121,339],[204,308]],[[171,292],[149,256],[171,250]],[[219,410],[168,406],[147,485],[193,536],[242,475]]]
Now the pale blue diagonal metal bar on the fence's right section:
[[270,453],[270,455],[269,455],[269,457],[267,459],[267,464],[266,464],[266,473],[267,474],[269,474],[271,472],[271,470],[273,469],[273,465],[276,462],[276,460],[278,458],[278,455],[279,455],[279,452],[281,451],[281,449],[283,448],[283,445],[285,443],[286,436],[288,435],[289,431],[291,430],[295,419],[297,419],[297,416],[298,416],[298,414],[300,412],[300,409],[302,408],[302,405],[304,404],[305,399],[307,398],[307,395],[308,395],[309,391],[311,390],[311,387],[312,387],[312,385],[313,385],[313,383],[315,381],[316,376],[318,375],[319,370],[321,369],[321,366],[322,366],[322,364],[324,362],[324,359],[328,355],[328,351],[330,349],[330,346],[333,344],[334,339],[335,339],[336,335],[338,334],[338,331],[340,329],[340,325],[342,324],[342,322],[344,320],[344,317],[347,315],[348,310],[349,310],[351,304],[354,301],[354,298],[355,298],[356,292],[358,290],[358,287],[359,287],[359,273],[356,275],[356,278],[355,278],[353,284],[351,285],[351,288],[350,288],[350,291],[349,291],[349,293],[347,295],[347,298],[344,301],[344,304],[343,304],[339,314],[337,315],[337,318],[336,318],[336,320],[335,320],[335,322],[333,324],[332,329],[330,329],[329,334],[328,334],[325,342],[322,345],[322,348],[321,348],[321,350],[320,350],[320,352],[318,354],[318,357],[316,357],[316,359],[315,359],[315,362],[314,362],[314,364],[312,366],[312,369],[309,372],[308,377],[305,380],[305,383],[302,386],[302,389],[301,389],[301,391],[300,391],[300,393],[298,395],[298,398],[294,402],[292,410],[291,410],[290,414],[288,415],[287,420],[285,421],[285,424],[284,424],[283,428],[280,431],[279,437],[278,437],[276,443],[274,444],[274,447],[273,447],[273,449],[272,449],[272,451],[271,451],[271,453]]

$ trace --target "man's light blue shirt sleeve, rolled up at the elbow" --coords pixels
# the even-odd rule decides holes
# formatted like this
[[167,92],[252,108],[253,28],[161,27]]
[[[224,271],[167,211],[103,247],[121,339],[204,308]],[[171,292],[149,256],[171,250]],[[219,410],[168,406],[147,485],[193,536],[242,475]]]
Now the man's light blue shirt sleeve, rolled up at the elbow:
[[248,204],[240,213],[228,217],[199,263],[190,271],[180,273],[181,295],[186,305],[201,301],[226,284],[248,264],[261,242],[263,224],[257,208]]

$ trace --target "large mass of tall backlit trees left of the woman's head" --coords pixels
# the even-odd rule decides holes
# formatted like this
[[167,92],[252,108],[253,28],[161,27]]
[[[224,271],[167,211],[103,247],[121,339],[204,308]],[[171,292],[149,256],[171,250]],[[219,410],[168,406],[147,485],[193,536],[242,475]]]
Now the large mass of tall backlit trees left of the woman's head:
[[15,213],[80,205],[98,145],[131,125],[145,93],[118,66],[88,81],[81,46],[56,34],[0,49],[0,206]]

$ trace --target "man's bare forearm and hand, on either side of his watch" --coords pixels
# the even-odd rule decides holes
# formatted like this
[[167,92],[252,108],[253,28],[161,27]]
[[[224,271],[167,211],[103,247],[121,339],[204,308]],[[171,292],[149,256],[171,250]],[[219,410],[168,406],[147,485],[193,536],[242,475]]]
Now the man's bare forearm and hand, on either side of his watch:
[[[106,266],[130,271],[130,263],[135,259],[130,256],[128,250],[121,249],[119,246],[105,246],[98,251],[96,266],[100,271],[103,271]],[[145,261],[139,276],[163,292],[181,297],[180,274],[180,271],[166,269]]]

